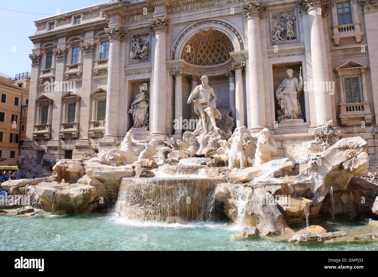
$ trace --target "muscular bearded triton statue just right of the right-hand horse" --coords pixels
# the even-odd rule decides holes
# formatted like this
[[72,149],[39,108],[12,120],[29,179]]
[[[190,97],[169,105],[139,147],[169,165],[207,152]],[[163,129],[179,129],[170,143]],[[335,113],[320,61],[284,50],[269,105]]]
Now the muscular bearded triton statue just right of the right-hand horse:
[[255,153],[255,162],[253,166],[259,166],[260,164],[265,164],[272,160],[270,152],[276,152],[277,146],[276,142],[270,136],[270,131],[268,128],[263,128],[260,133],[255,135],[250,135],[252,138],[257,138],[257,148]]

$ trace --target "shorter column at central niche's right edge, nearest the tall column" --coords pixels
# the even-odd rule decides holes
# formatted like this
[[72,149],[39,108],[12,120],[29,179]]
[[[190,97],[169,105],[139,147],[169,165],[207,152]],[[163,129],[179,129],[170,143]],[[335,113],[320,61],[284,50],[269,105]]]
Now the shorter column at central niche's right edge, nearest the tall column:
[[244,93],[243,93],[243,74],[245,62],[232,63],[235,70],[235,107],[236,107],[236,127],[244,126]]

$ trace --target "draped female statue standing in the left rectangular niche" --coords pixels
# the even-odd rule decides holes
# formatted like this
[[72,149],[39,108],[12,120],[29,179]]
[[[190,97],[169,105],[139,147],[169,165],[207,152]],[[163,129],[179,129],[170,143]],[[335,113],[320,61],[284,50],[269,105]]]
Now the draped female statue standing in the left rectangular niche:
[[144,92],[144,85],[139,86],[139,93],[136,94],[134,102],[131,103],[129,113],[133,116],[134,125],[132,128],[148,126],[149,122],[149,99]]

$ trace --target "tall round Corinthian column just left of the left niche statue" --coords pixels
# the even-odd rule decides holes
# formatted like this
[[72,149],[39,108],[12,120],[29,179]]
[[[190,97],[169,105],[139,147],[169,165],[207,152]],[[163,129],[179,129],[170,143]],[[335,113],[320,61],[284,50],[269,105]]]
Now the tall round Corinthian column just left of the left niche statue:
[[108,85],[106,93],[105,136],[116,137],[118,134],[119,102],[119,56],[121,41],[127,31],[120,27],[105,28],[109,38]]

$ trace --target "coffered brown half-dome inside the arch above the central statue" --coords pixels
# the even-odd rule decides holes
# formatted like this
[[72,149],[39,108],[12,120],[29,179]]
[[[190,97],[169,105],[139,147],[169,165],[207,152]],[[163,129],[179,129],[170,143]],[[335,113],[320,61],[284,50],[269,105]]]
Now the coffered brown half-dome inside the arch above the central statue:
[[228,61],[233,51],[226,34],[211,27],[202,28],[187,41],[181,59],[193,65],[217,65]]

